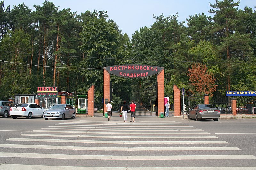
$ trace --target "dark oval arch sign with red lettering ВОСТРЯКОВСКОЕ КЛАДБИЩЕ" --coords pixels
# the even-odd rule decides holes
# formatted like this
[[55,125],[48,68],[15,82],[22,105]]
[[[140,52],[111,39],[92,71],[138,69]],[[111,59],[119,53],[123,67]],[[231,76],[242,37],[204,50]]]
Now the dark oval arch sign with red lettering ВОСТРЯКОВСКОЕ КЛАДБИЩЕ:
[[124,78],[143,78],[158,74],[163,67],[139,64],[113,65],[104,67],[110,74]]

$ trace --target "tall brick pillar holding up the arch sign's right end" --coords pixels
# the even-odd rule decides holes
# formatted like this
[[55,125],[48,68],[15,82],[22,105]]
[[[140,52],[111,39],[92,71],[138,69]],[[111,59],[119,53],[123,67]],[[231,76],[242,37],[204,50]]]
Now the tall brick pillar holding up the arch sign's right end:
[[158,116],[164,113],[164,69],[157,75],[157,104]]

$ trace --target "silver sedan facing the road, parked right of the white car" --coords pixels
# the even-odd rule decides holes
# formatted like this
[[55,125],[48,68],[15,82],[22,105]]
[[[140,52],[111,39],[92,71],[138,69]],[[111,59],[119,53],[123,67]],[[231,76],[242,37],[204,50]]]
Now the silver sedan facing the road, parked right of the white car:
[[43,116],[45,120],[48,120],[48,118],[64,120],[65,117],[74,119],[76,116],[76,109],[68,104],[56,104],[49,108],[49,110],[46,110]]

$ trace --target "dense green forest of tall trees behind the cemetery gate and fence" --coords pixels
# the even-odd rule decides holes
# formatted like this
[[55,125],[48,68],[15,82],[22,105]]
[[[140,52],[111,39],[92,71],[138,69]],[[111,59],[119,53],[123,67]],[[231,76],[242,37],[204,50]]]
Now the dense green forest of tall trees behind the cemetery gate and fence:
[[[164,67],[170,103],[173,84],[186,95],[207,93],[214,99],[227,90],[255,90],[256,11],[238,9],[239,1],[215,0],[209,5],[212,17],[201,13],[178,22],[178,13],[154,16],[151,27],[132,37],[122,34],[107,11],[76,14],[49,1],[34,7],[4,8],[0,2],[0,99],[33,94],[39,86],[87,94],[94,84],[100,107],[102,68],[120,64]],[[111,76],[111,81],[113,98],[156,96],[156,76]]]

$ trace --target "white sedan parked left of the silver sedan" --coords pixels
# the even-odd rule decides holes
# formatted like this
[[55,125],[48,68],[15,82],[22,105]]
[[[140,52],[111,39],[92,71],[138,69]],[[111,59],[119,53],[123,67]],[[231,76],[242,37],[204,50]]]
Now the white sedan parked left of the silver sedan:
[[44,113],[45,109],[36,103],[19,103],[10,108],[10,116],[13,119],[16,119],[19,116],[27,117],[27,119],[31,119],[35,116],[43,117]]

